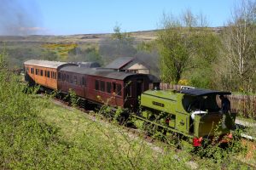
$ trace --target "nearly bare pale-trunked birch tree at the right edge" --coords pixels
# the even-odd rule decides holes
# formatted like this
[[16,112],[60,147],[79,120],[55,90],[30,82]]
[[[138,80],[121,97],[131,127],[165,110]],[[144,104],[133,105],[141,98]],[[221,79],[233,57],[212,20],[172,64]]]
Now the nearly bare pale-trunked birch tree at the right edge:
[[[224,70],[230,89],[253,91],[256,67],[256,2],[241,1],[224,30]],[[254,89],[255,90],[255,89]]]

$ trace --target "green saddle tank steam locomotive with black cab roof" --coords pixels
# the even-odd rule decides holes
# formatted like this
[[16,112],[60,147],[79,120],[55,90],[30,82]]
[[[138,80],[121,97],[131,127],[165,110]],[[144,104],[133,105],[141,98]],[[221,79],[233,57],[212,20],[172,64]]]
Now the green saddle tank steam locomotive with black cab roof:
[[190,138],[224,135],[235,125],[236,114],[221,111],[218,97],[229,94],[201,88],[148,90],[141,96],[141,117]]

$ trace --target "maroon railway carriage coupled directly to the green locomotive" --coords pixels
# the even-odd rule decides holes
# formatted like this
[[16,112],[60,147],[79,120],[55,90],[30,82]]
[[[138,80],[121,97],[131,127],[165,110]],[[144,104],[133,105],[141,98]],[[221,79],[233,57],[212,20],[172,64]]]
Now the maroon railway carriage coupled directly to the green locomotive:
[[80,97],[97,104],[132,108],[138,96],[148,90],[150,77],[102,68],[84,69],[65,66],[58,72],[58,89],[67,93],[71,88]]

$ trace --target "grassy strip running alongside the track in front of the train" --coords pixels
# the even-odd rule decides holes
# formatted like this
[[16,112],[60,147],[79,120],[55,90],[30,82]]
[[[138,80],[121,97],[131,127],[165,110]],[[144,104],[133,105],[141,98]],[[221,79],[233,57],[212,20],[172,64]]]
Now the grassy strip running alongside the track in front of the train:
[[174,155],[178,154],[174,150],[155,150],[144,139],[132,138],[123,127],[102,121],[101,116],[95,116],[94,121],[91,119],[93,116],[76,109],[67,110],[52,104],[48,99],[35,101],[40,103],[40,120],[57,127],[62,139],[75,144],[75,148],[79,148],[79,155],[84,155],[86,158],[83,159],[91,161],[88,165],[90,168],[188,168],[184,163],[189,160],[188,154],[179,153],[182,159],[177,160]]

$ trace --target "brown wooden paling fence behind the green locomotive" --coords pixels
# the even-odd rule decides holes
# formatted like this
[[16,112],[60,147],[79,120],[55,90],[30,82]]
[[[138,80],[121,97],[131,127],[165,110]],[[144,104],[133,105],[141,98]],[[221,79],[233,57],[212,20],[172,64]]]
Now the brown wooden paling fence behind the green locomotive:
[[[160,89],[173,89],[179,91],[181,85],[160,83]],[[235,111],[238,115],[244,117],[256,119],[256,95],[231,94],[228,98],[230,99],[231,111]]]

